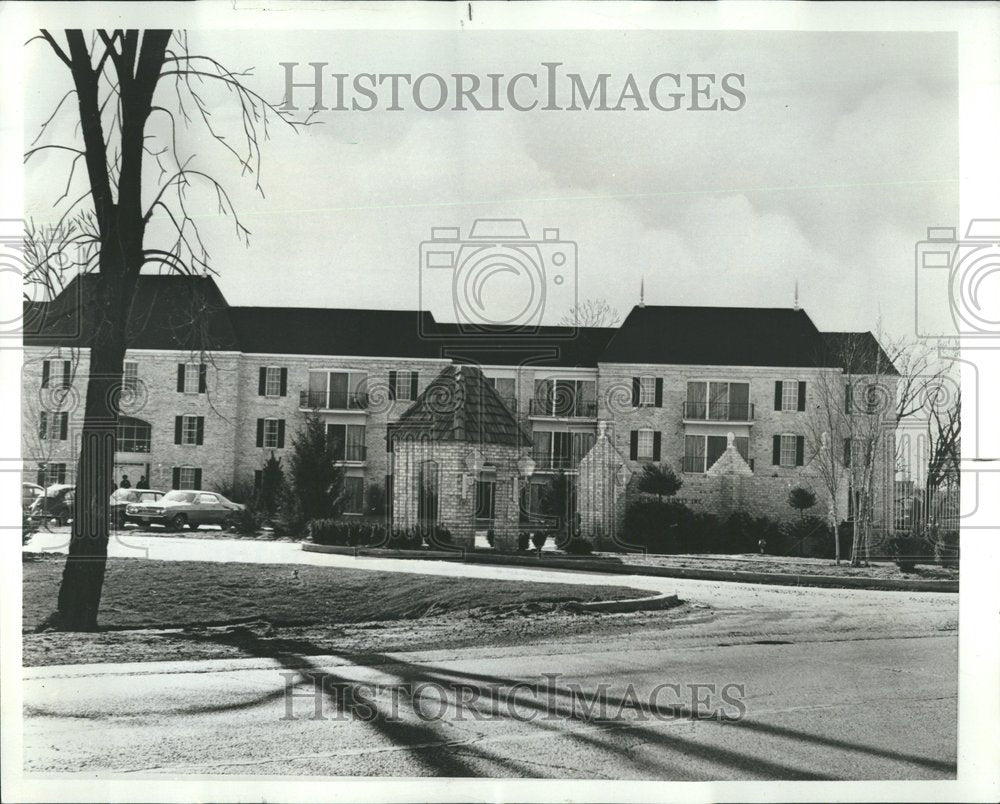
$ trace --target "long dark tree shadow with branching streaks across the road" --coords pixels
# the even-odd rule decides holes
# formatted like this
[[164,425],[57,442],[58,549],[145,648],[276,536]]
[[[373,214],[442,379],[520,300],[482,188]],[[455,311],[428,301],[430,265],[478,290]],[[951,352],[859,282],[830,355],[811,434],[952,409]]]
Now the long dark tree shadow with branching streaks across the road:
[[[364,714],[362,719],[391,745],[408,750],[426,772],[440,776],[552,776],[563,775],[571,771],[571,775],[587,778],[602,775],[600,768],[594,764],[586,768],[568,768],[564,765],[552,765],[544,762],[519,761],[504,756],[498,756],[496,751],[488,751],[487,745],[497,746],[505,739],[503,736],[490,740],[482,726],[477,726],[477,720],[504,719],[517,721],[522,728],[538,730],[544,738],[564,738],[579,743],[591,752],[605,753],[614,758],[615,762],[625,762],[633,767],[637,775],[649,779],[691,779],[698,777],[692,769],[696,764],[710,763],[718,768],[718,778],[743,779],[781,779],[781,780],[831,780],[836,777],[811,767],[799,767],[787,761],[765,759],[759,753],[733,750],[719,745],[710,744],[718,739],[718,733],[699,730],[697,737],[692,738],[676,733],[676,730],[664,728],[670,723],[683,723],[690,729],[690,723],[698,721],[708,724],[713,729],[734,729],[749,731],[763,737],[776,737],[793,743],[809,743],[834,749],[848,754],[861,754],[871,757],[892,760],[915,766],[924,773],[931,771],[941,776],[954,776],[957,770],[954,761],[941,761],[899,751],[865,745],[858,742],[825,737],[822,735],[794,729],[791,727],[765,723],[751,719],[706,719],[705,712],[693,711],[682,705],[662,706],[651,705],[640,698],[613,695],[598,687],[596,692],[587,691],[591,708],[580,706],[581,688],[578,685],[559,685],[548,682],[544,689],[545,695],[529,694],[526,684],[538,684],[537,678],[508,678],[504,676],[476,673],[467,670],[454,670],[407,661],[398,655],[382,653],[350,654],[345,652],[321,649],[306,640],[267,639],[261,638],[249,629],[235,629],[224,634],[178,635],[180,638],[209,640],[239,648],[248,656],[256,658],[273,658],[283,670],[295,672],[295,688],[311,686],[315,692],[321,685],[322,695],[326,704],[332,709],[346,708],[351,716]],[[384,707],[375,701],[374,716],[371,712],[358,713],[354,711],[356,701],[351,692],[360,687],[368,688],[369,684],[348,677],[344,669],[323,667],[322,664],[309,659],[309,656],[333,656],[342,661],[348,661],[354,668],[375,669],[391,676],[393,684],[405,685],[407,689],[419,690],[420,685],[435,685],[449,690],[462,690],[464,701],[450,700],[449,706],[464,706],[467,714],[472,716],[469,729],[464,735],[456,737],[454,729],[445,731],[441,722],[425,719],[418,714],[422,706],[419,692],[410,700],[411,711],[405,713],[406,719],[390,716]],[[286,678],[288,678],[286,676]],[[506,691],[501,698],[502,706],[498,706],[499,691]],[[518,691],[519,690],[519,691]],[[334,693],[336,691],[336,693]],[[345,694],[345,691],[347,694]],[[457,694],[457,693],[456,693]],[[236,711],[263,706],[278,701],[288,704],[289,686],[282,685],[264,695],[247,701],[233,704],[206,704],[173,710],[173,714],[192,715],[214,712]],[[308,693],[298,692],[296,697],[308,696]],[[372,698],[368,697],[368,702]],[[433,705],[440,704],[440,697],[435,694],[431,700]],[[612,717],[595,717],[594,708],[598,712],[614,713]],[[287,710],[286,710],[287,711]],[[452,710],[457,711],[457,710]],[[752,713],[751,713],[752,716]],[[461,719],[459,719],[461,720]],[[442,721],[446,725],[449,721]],[[686,723],[685,723],[686,722]],[[454,724],[452,724],[454,725]],[[690,734],[690,731],[688,731]],[[519,737],[518,739],[524,739]],[[640,754],[635,748],[648,746],[652,751]],[[650,756],[653,754],[654,756]],[[470,764],[469,761],[474,764]],[[484,764],[485,763],[485,764]],[[488,772],[484,772],[488,768]],[[548,771],[546,773],[546,771]],[[557,771],[553,774],[553,771]]]

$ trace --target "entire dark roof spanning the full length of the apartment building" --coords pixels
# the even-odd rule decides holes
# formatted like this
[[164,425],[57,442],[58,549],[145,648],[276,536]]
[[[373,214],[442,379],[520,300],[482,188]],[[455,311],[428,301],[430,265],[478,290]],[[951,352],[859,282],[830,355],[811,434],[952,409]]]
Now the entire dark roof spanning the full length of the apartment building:
[[[87,346],[101,315],[96,280],[77,278],[51,302],[26,302],[25,345]],[[127,338],[133,349],[582,368],[598,362],[843,367],[850,344],[869,356],[864,366],[872,373],[880,360],[888,373],[896,373],[870,332],[821,333],[802,310],[650,305],[633,308],[617,329],[539,327],[484,336],[414,310],[233,307],[212,278],[195,276],[141,276]]]

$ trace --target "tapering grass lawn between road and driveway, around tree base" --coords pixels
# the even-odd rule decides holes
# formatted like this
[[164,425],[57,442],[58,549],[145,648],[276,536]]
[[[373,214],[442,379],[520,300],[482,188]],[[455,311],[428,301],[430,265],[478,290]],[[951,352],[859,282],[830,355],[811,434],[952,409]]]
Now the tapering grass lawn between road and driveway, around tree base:
[[[26,556],[25,631],[34,630],[52,612],[64,563],[61,555]],[[109,630],[183,628],[250,620],[264,620],[273,626],[351,624],[648,594],[623,586],[125,558],[108,561],[100,624]]]

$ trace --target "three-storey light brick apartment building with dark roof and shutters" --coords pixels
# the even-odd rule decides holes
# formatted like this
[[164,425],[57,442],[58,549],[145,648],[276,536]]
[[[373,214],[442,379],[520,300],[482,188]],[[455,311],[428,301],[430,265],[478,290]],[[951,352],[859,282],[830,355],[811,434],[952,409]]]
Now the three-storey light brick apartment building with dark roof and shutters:
[[[26,306],[22,455],[25,479],[43,485],[75,471],[86,339],[98,316],[89,285],[76,279],[51,302]],[[895,371],[871,333],[821,333],[799,309],[640,305],[619,327],[483,337],[427,312],[239,307],[211,278],[143,276],[115,481],[251,484],[316,411],[345,470],[347,513],[362,513],[373,486],[392,494],[387,428],[442,371],[473,364],[530,438],[519,449],[534,462],[527,505],[553,473],[575,475],[601,440],[626,475],[670,464],[695,507],[787,517],[792,486],[823,498],[808,417],[820,388],[844,387],[831,348],[844,338],[872,346],[885,368],[873,367],[871,381],[891,393]],[[831,440],[849,460],[850,446]],[[486,476],[476,482],[477,516],[489,519],[496,490]]]

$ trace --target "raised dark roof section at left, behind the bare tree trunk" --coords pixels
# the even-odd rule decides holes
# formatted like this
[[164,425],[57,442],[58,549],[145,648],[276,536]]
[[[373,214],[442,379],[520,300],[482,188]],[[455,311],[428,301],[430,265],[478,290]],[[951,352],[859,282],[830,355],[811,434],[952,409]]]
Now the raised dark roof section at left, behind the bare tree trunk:
[[[74,278],[51,302],[26,303],[26,346],[86,347],[105,316],[98,277]],[[215,281],[201,276],[140,276],[128,319],[132,349],[236,351],[229,305]]]

